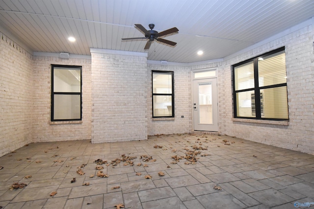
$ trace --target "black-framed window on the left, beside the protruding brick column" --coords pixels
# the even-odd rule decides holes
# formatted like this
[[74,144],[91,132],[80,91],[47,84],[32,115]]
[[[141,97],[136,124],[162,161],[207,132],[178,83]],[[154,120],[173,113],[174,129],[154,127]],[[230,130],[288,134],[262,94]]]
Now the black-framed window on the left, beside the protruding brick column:
[[51,121],[82,119],[81,72],[79,66],[52,65]]

